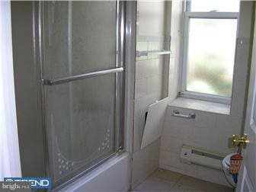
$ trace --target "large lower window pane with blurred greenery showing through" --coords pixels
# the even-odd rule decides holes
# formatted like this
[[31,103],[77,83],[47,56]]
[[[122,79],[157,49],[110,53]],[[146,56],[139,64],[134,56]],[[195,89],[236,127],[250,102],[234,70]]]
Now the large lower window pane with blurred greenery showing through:
[[231,96],[236,19],[190,18],[187,91]]

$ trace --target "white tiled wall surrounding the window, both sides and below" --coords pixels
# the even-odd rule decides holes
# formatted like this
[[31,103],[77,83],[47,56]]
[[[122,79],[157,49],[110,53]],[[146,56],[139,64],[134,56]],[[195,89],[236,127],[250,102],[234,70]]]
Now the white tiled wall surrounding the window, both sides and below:
[[[215,114],[202,110],[191,110],[186,107],[169,106],[161,140],[161,168],[228,185],[221,171],[200,165],[187,165],[181,162],[180,152],[183,144],[224,154],[234,152],[234,148],[229,148],[229,138],[232,134],[240,134],[244,118],[250,47],[248,31],[251,31],[251,29],[245,28],[250,27],[251,7],[251,2],[242,2],[241,27],[243,29],[238,30],[230,114]],[[179,23],[181,22],[181,10],[181,2],[173,1],[171,18],[171,50],[173,54],[170,61],[171,75],[169,84],[171,99],[178,94],[178,69],[181,59],[180,46],[182,38],[182,25]],[[172,117],[171,112],[173,110],[180,110],[184,114],[194,112],[197,114],[196,120]]]

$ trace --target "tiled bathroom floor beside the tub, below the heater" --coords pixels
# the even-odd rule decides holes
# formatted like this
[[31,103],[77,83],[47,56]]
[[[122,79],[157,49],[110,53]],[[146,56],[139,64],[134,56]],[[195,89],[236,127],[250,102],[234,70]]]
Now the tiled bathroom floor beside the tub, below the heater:
[[232,188],[158,169],[132,192],[232,192]]

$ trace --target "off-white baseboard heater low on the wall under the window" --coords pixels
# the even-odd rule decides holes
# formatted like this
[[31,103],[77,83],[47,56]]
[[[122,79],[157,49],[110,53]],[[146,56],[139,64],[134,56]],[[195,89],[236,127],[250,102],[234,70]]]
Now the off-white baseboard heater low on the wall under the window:
[[218,152],[210,152],[206,149],[198,149],[193,146],[184,145],[181,148],[181,159],[185,163],[194,163],[219,170],[222,170],[222,159],[225,156]]

